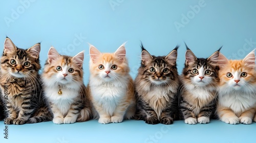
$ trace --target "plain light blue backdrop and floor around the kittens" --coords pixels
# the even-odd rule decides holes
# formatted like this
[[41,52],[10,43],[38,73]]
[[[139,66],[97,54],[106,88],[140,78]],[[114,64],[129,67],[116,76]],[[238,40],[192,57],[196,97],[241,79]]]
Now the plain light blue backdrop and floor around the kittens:
[[[83,68],[84,83],[87,84],[88,42],[101,52],[112,53],[127,41],[126,53],[133,78],[140,64],[140,40],[148,52],[156,56],[167,55],[179,44],[177,63],[181,73],[184,42],[198,57],[209,57],[222,45],[221,52],[232,59],[244,58],[252,51],[256,46],[255,7],[256,1],[253,0],[1,1],[0,49],[3,50],[6,36],[23,49],[41,42],[42,66],[51,45],[60,54],[70,56],[85,50]],[[176,26],[178,23],[180,28]],[[0,130],[3,131],[3,122],[0,123]],[[38,139],[39,142],[43,139],[60,142],[57,138],[62,136],[69,142],[79,139],[98,142],[104,138],[107,138],[106,142],[145,142],[146,137],[154,135],[162,126],[146,125],[142,121],[110,125],[90,121],[60,126],[49,122],[9,126],[10,139],[3,140],[3,134],[0,134],[0,142],[12,142],[19,138],[33,138],[31,142]],[[208,125],[189,126],[179,121],[170,126],[177,128],[170,129],[155,142],[172,142],[172,139],[175,140],[173,142],[184,142],[186,139],[186,142],[201,142],[201,138],[204,139],[202,142],[255,142],[255,123],[232,126],[214,121]]]

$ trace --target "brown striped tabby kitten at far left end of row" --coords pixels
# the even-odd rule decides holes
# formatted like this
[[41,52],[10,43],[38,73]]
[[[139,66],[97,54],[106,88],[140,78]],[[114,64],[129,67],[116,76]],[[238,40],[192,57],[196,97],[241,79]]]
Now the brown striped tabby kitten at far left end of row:
[[5,124],[21,125],[52,120],[41,92],[38,70],[40,43],[27,50],[6,38],[1,58],[2,101],[7,101]]

